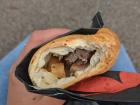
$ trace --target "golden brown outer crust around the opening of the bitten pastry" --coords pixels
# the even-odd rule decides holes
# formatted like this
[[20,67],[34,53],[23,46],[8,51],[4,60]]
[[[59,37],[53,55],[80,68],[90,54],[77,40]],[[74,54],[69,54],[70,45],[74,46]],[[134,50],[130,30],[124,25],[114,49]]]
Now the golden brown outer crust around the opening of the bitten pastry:
[[[62,38],[55,39],[46,45],[42,46],[32,57],[30,65],[29,65],[29,76],[31,77],[31,73],[37,68],[37,63],[39,62],[40,55],[47,51],[48,49],[59,47],[59,46],[68,46],[72,45],[72,43],[75,43],[75,40],[82,39],[86,40],[87,42],[94,42],[96,45],[105,44],[107,47],[107,50],[105,52],[105,57],[103,57],[100,62],[98,63],[98,66],[93,67],[88,72],[83,73],[79,77],[74,77],[67,82],[60,82],[54,85],[50,85],[45,88],[67,88],[78,81],[81,81],[85,78],[89,78],[91,76],[95,76],[98,74],[102,74],[106,71],[108,71],[112,65],[115,63],[117,56],[119,54],[120,49],[120,42],[117,37],[117,35],[112,32],[108,28],[101,28],[99,31],[94,35],[69,35]],[[72,45],[73,46],[73,45]],[[31,72],[32,71],[32,72]],[[32,80],[32,78],[31,78]],[[34,82],[34,81],[32,81]],[[41,87],[42,88],[42,87]]]

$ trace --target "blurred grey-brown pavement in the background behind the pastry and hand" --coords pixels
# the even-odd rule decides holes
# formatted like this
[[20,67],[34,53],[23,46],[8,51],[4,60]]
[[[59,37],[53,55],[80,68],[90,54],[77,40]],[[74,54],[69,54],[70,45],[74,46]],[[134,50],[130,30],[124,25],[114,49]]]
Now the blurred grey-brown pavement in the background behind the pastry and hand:
[[89,27],[97,10],[139,69],[140,0],[0,0],[0,58],[34,30]]

